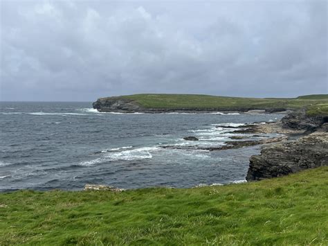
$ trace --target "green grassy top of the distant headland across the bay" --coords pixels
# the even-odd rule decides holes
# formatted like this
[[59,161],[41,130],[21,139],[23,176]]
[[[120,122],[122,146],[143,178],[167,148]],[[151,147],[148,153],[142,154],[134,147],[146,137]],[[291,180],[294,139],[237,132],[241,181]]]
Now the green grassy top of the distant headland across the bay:
[[328,103],[327,95],[310,95],[309,98],[237,98],[193,94],[135,94],[121,96],[135,100],[145,108],[217,108],[217,109],[266,109],[300,108],[318,103]]

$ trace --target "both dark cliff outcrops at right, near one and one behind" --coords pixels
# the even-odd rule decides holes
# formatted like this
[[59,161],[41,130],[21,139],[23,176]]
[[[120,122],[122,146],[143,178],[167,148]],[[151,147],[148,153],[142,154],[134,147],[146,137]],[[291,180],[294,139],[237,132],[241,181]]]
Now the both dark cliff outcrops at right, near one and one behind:
[[307,116],[304,112],[294,112],[282,118],[282,127],[303,130],[304,136],[263,146],[260,155],[250,157],[247,181],[328,166],[328,116]]

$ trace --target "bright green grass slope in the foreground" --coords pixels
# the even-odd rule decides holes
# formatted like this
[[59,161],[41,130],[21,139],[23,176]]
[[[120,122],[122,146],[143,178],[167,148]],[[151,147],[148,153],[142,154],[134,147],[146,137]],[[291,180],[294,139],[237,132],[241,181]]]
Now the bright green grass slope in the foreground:
[[248,184],[0,194],[0,245],[328,245],[328,167]]

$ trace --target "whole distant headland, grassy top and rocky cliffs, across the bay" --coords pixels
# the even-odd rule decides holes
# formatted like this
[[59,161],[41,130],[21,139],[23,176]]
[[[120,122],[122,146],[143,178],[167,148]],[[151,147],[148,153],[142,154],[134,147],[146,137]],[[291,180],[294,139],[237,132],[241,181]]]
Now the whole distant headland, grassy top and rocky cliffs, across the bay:
[[98,98],[93,108],[99,112],[188,112],[188,113],[288,113],[328,103],[328,95],[298,98],[236,98],[193,94],[136,94]]

